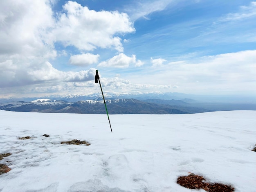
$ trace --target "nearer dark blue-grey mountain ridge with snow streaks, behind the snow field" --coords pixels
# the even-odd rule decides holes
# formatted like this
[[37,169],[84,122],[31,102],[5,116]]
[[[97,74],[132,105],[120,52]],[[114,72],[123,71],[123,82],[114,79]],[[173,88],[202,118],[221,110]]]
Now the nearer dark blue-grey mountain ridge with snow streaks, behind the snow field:
[[[175,102],[175,101],[173,101]],[[177,101],[178,103],[182,101]],[[209,112],[208,109],[198,107],[165,105],[144,102],[136,99],[107,99],[106,105],[109,114],[187,114]],[[1,110],[17,112],[49,112],[49,113],[80,113],[80,114],[105,114],[103,100],[81,100],[68,102],[65,100],[37,99],[31,102],[14,101],[0,104]]]

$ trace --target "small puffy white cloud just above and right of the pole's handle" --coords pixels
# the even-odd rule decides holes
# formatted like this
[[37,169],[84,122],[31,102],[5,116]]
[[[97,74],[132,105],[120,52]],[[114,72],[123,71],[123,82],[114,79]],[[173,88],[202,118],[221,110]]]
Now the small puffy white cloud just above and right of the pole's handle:
[[99,67],[116,67],[116,68],[127,68],[130,64],[134,64],[136,67],[142,66],[144,63],[141,60],[137,60],[135,55],[131,57],[121,53],[117,56],[110,58],[107,61],[99,63]]

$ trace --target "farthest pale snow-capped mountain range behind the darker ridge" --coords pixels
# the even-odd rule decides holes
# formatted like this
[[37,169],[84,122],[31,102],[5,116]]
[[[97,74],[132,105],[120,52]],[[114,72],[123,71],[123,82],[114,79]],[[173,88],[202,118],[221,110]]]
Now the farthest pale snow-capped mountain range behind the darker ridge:
[[[249,103],[256,104],[255,96],[243,96],[243,95],[195,95],[195,94],[183,94],[175,92],[151,92],[151,93],[141,93],[141,92],[128,92],[128,93],[115,93],[115,92],[104,92],[105,98],[109,99],[137,99],[137,100],[148,100],[148,99],[160,99],[160,100],[182,100],[186,103]],[[65,100],[68,102],[77,102],[80,100],[94,100],[96,98],[102,97],[101,92],[94,94],[69,94],[65,96],[44,96],[45,99],[50,100]],[[0,103],[7,103],[11,101],[31,101],[37,100],[38,98],[0,98]]]

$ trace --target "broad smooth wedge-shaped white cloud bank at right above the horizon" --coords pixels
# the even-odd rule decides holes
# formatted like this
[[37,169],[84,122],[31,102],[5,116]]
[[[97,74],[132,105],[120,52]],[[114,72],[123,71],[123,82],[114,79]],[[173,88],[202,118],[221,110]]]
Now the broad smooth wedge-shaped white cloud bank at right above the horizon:
[[[219,94],[247,91],[256,93],[256,50],[204,56],[196,60],[166,63],[131,74],[141,84],[178,85],[179,92]],[[174,87],[173,87],[174,88]]]

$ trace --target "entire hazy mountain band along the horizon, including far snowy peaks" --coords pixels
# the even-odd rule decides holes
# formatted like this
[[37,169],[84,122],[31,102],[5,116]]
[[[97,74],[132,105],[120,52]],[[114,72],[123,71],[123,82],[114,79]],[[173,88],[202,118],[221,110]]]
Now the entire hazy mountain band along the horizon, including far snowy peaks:
[[[255,98],[196,96],[181,93],[104,93],[109,114],[189,114],[256,110]],[[22,100],[22,101],[16,101]],[[19,112],[105,114],[101,93],[22,99],[0,99],[0,109]],[[226,101],[228,100],[228,101]],[[225,102],[226,101],[226,102]],[[244,103],[243,103],[244,102]]]

